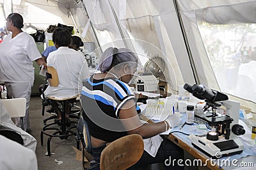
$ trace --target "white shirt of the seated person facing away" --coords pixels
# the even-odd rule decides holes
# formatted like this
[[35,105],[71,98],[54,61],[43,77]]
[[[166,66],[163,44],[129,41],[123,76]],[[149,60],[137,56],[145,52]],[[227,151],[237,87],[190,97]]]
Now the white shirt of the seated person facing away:
[[83,54],[68,47],[59,47],[51,52],[47,66],[56,69],[59,84],[57,87],[48,86],[45,97],[68,98],[79,95],[83,80],[90,76]]

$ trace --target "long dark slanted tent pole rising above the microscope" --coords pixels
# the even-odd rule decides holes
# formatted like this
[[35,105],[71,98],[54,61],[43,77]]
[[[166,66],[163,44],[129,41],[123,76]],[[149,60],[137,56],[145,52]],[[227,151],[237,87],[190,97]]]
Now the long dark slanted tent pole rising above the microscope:
[[180,29],[181,29],[181,32],[182,32],[182,35],[183,35],[183,38],[184,38],[184,43],[186,45],[186,49],[187,49],[187,52],[188,52],[189,61],[190,61],[189,63],[191,65],[191,69],[193,71],[195,82],[196,82],[196,84],[200,84],[200,81],[198,79],[198,74],[196,72],[195,61],[194,61],[194,59],[192,57],[192,54],[191,54],[191,50],[190,50],[189,43],[188,43],[188,36],[186,35],[186,31],[185,31],[185,28],[184,28],[184,25],[183,25],[183,22],[182,22],[182,17],[180,15],[179,5],[177,3],[177,0],[173,0],[173,4],[175,6],[175,11],[177,13],[177,17],[178,17],[178,20],[179,20]]

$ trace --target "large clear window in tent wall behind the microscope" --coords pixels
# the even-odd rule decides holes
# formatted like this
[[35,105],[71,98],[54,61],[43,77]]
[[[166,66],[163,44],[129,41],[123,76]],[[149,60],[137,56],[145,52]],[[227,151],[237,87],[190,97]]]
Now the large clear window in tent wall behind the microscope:
[[221,91],[256,102],[256,24],[197,25]]

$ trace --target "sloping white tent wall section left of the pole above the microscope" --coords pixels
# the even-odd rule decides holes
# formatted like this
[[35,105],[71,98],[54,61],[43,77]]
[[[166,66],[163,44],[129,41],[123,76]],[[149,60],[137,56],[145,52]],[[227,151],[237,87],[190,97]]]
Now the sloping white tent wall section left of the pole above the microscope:
[[[178,84],[184,84],[184,79],[186,79],[186,82],[195,82],[172,2],[161,1],[159,4],[157,1],[126,1],[124,4],[126,6],[126,15],[122,15],[122,20],[120,20],[119,13],[119,8],[122,6],[120,2],[124,3],[124,1],[111,1],[122,34],[124,38],[127,38],[125,39],[127,46],[130,49],[136,49],[146,59],[152,58],[156,54],[163,57],[166,65],[168,65],[164,70],[166,79],[173,89],[177,90]],[[109,16],[109,13],[113,14],[109,1],[84,1],[84,3],[86,8],[91,11],[93,11],[94,6],[99,6],[97,9],[100,10],[95,10],[95,12],[89,12],[88,10],[88,14],[93,13],[90,19],[92,19],[95,29],[99,31],[97,37],[100,45],[108,43],[109,46],[120,47],[117,43],[113,44],[113,42],[118,42],[115,40],[121,39],[122,36],[116,33],[118,27],[116,26],[115,18],[111,17],[111,15]],[[100,17],[101,20],[95,15],[102,16]],[[106,16],[108,16],[107,25]],[[105,27],[104,31],[108,31],[108,35],[100,33],[102,27]],[[180,36],[170,38],[173,34]],[[105,48],[109,47],[108,45]],[[173,46],[180,49],[180,53],[177,56],[182,56],[182,58],[175,58]],[[186,69],[180,69],[180,65]]]

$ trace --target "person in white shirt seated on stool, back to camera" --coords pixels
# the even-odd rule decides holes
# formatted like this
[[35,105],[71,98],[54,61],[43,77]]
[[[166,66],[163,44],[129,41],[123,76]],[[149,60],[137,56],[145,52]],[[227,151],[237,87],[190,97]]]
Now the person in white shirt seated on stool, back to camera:
[[[84,65],[85,59],[81,52],[69,49],[71,35],[67,29],[57,28],[52,34],[52,41],[57,50],[51,52],[47,58],[47,66],[56,69],[59,84],[56,87],[48,86],[45,89],[45,97],[58,99],[70,98],[79,95],[83,86],[83,80],[90,75],[88,66]],[[56,111],[56,123],[61,121],[61,110],[55,100],[51,102],[52,108]],[[70,122],[70,105],[67,105],[65,117]],[[69,123],[68,123],[69,124]],[[68,125],[67,124],[67,125]]]

